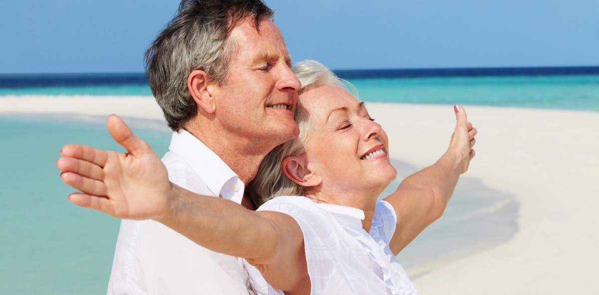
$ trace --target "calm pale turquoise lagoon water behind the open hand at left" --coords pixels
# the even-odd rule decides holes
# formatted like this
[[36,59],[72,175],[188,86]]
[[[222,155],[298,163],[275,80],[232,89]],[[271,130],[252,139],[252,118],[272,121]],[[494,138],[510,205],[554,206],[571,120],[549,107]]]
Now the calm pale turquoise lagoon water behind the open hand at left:
[[[170,132],[132,126],[156,153]],[[0,293],[103,294],[119,220],[66,199],[55,162],[68,143],[123,151],[101,121],[0,116]]]

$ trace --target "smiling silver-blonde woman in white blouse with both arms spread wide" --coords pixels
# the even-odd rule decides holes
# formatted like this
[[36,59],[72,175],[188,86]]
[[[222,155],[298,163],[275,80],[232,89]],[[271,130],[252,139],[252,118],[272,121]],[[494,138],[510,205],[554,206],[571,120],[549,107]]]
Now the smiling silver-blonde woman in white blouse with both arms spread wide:
[[[268,154],[247,188],[258,211],[169,183],[158,157],[144,162],[156,167],[155,176],[131,180],[108,171],[119,180],[104,188],[108,197],[83,189],[69,199],[119,218],[151,218],[205,248],[243,257],[258,293],[418,294],[395,255],[423,227],[406,232],[398,225],[429,209],[437,210],[431,223],[442,214],[474,156],[476,129],[456,106],[447,152],[377,201],[396,177],[385,131],[347,91],[349,83],[320,63],[298,63],[294,72],[302,82],[300,134]],[[418,212],[403,210],[405,202],[420,202]]]

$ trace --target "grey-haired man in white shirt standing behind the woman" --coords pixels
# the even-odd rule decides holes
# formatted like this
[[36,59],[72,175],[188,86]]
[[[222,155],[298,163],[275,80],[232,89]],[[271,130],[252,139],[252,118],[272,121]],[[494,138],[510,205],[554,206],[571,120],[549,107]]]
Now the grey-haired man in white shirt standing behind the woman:
[[[298,135],[300,84],[272,19],[260,0],[183,0],[150,45],[146,74],[174,130],[162,158],[173,183],[251,206],[244,185]],[[122,221],[108,294],[198,293],[252,293],[243,261],[155,221]]]

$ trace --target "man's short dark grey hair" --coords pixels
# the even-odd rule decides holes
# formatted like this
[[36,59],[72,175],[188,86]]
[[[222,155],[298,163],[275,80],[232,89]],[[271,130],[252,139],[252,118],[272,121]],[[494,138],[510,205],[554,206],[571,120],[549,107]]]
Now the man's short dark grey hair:
[[146,78],[171,129],[180,130],[198,111],[187,89],[192,71],[206,72],[219,85],[228,82],[238,48],[228,37],[244,17],[252,17],[259,31],[259,21],[272,21],[274,12],[261,0],[183,0],[147,49]]

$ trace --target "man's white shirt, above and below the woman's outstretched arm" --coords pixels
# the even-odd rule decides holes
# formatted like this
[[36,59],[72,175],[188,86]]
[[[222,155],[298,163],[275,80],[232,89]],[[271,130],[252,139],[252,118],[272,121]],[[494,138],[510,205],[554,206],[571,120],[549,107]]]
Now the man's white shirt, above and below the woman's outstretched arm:
[[[162,162],[174,184],[241,203],[243,183],[195,136],[173,132],[169,150]],[[153,220],[121,222],[108,294],[253,294],[248,288],[243,259],[202,248]]]

